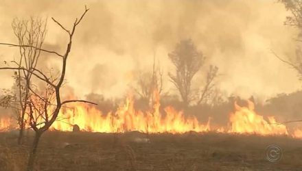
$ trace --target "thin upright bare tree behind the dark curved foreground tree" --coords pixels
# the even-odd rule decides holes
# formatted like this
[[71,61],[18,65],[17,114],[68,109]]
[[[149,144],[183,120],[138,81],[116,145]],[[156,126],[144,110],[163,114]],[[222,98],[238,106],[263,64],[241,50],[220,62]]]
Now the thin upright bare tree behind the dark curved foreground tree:
[[[12,22],[12,29],[14,35],[19,42],[19,60],[12,61],[19,68],[26,70],[33,70],[38,64],[40,57],[40,48],[43,45],[46,36],[47,20],[41,18],[30,18],[29,20],[14,19]],[[24,47],[28,46],[28,47]],[[36,47],[36,48],[35,48]],[[23,144],[23,132],[25,129],[25,113],[27,110],[27,102],[30,97],[30,83],[32,73],[25,72],[25,70],[17,70],[14,73],[14,94],[16,96],[16,103],[20,110],[14,110],[18,118],[19,124],[19,138],[18,144]]]

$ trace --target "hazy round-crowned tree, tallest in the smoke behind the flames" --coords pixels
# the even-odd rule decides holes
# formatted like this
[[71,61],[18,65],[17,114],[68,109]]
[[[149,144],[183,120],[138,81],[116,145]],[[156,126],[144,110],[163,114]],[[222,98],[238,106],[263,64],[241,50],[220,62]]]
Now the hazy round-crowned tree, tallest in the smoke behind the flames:
[[174,51],[168,55],[175,66],[175,73],[169,73],[169,77],[181,95],[183,105],[187,107],[193,100],[191,81],[205,62],[205,56],[190,39],[176,44]]

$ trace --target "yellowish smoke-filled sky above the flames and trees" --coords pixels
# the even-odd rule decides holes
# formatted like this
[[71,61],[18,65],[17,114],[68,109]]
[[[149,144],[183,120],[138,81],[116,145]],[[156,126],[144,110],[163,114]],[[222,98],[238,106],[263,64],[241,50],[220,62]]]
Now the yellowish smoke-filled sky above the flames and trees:
[[[207,57],[195,86],[209,64],[220,68],[218,88],[226,95],[269,98],[300,88],[297,73],[272,55],[294,55],[297,30],[283,25],[288,12],[277,1],[0,1],[0,41],[16,42],[13,18],[47,18],[45,48],[64,52],[67,28],[84,10],[89,12],[75,32],[67,64],[67,84],[78,96],[100,93],[122,96],[141,70],[151,70],[153,57],[161,63],[164,90],[174,91],[167,73],[173,70],[167,53],[177,42],[191,38]],[[18,57],[17,49],[0,47],[0,60]],[[58,57],[42,54],[41,65],[60,68]],[[1,63],[2,65],[2,63]],[[1,87],[12,85],[2,72]]]

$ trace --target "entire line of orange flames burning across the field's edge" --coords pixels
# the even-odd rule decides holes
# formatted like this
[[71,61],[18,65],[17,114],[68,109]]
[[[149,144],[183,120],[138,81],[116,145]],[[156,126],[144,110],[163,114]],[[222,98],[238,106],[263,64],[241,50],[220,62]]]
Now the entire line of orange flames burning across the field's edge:
[[[247,107],[241,107],[235,103],[235,111],[229,115],[229,127],[211,129],[210,120],[202,124],[195,116],[185,116],[183,111],[177,111],[168,106],[159,110],[159,97],[148,111],[139,111],[134,107],[132,98],[126,98],[126,103],[108,114],[92,105],[76,103],[68,107],[62,107],[58,119],[51,126],[54,131],[72,131],[73,125],[77,124],[82,131],[100,133],[124,133],[127,131],[140,131],[143,133],[186,133],[189,131],[206,132],[218,131],[221,133],[253,133],[257,135],[290,135],[302,137],[300,129],[288,133],[284,124],[278,124],[273,116],[265,118],[256,114],[254,104],[248,101]],[[17,129],[12,127],[16,120],[0,118],[0,131]]]

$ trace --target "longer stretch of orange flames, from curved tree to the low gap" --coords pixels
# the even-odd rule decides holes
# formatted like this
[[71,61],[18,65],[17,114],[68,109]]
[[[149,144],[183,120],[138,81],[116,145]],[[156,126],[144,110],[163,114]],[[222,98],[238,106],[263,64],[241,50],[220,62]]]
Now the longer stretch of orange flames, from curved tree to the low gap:
[[[165,114],[159,111],[159,101],[156,101],[152,111],[137,111],[133,107],[132,98],[126,99],[116,112],[104,115],[91,105],[71,105],[62,109],[59,118],[66,117],[64,122],[55,122],[51,129],[72,131],[73,124],[78,124],[84,131],[123,133],[126,131],[141,131],[143,133],[185,133],[187,131],[207,131],[209,122],[200,124],[196,117],[186,118],[182,111],[166,107]],[[71,109],[72,108],[72,109]]]

